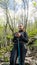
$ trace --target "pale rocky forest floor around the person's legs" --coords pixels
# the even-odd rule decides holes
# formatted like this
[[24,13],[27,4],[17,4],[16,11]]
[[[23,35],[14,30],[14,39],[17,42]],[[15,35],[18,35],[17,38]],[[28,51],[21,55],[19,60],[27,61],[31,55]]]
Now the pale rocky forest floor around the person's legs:
[[[26,65],[37,65],[37,47],[34,48],[35,50],[27,51],[26,58],[25,58],[25,63]],[[10,52],[7,52],[5,56],[9,57]],[[17,62],[18,63],[18,60]],[[0,62],[0,65],[9,65],[10,62]]]

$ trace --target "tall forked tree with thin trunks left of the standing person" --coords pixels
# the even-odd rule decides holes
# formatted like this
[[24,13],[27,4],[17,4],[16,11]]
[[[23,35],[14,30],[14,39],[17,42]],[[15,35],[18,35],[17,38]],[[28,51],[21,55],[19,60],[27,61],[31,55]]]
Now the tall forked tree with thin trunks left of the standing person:
[[[4,41],[5,41],[5,46],[7,46],[7,25],[9,25],[10,30],[12,31],[12,33],[14,34],[14,28],[13,28],[13,23],[12,23],[12,19],[8,10],[8,3],[9,0],[2,0],[1,3],[1,7],[4,9],[4,13],[6,15],[6,24],[4,25]],[[4,5],[3,5],[4,4]],[[10,18],[10,22],[12,23],[12,27],[9,23],[9,18]]]

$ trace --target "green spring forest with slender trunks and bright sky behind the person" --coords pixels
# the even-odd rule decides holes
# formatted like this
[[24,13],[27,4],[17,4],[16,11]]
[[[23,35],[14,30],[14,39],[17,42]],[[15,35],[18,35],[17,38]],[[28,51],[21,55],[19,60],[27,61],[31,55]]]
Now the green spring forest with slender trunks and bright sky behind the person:
[[37,48],[37,0],[0,0],[0,63],[10,61],[12,39],[20,22],[26,28],[29,41],[33,41],[27,47]]

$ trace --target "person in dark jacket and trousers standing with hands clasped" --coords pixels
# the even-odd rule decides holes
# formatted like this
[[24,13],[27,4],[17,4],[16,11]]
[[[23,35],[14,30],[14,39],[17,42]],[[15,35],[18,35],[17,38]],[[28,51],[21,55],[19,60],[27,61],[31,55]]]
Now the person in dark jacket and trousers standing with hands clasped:
[[24,44],[28,42],[28,36],[26,31],[24,31],[23,24],[18,25],[19,31],[14,34],[13,42],[14,42],[14,48],[11,51],[10,56],[10,65],[16,65],[16,59],[18,57],[18,39],[20,43],[20,63],[21,65],[25,65],[24,60],[26,56],[27,49],[25,48]]

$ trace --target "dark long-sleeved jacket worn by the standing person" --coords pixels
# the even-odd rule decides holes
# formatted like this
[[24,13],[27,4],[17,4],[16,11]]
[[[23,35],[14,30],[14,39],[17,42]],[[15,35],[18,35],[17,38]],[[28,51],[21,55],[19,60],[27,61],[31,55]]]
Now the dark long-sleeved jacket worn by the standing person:
[[18,43],[18,39],[19,39],[19,43],[22,43],[22,44],[26,44],[28,42],[28,35],[26,32],[23,32],[23,31],[19,31],[19,33],[21,33],[21,36],[19,38],[17,38],[14,34],[14,38],[13,38],[13,42],[14,44],[17,44]]

